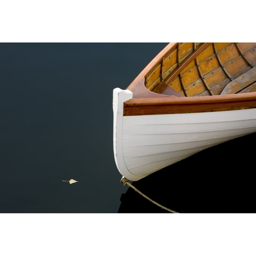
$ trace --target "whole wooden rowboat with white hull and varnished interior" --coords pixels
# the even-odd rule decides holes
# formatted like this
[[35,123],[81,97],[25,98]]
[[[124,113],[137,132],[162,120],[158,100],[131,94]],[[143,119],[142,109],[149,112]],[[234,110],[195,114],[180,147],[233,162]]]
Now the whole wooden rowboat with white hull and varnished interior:
[[170,43],[113,90],[113,112],[115,162],[132,181],[254,133],[256,43]]

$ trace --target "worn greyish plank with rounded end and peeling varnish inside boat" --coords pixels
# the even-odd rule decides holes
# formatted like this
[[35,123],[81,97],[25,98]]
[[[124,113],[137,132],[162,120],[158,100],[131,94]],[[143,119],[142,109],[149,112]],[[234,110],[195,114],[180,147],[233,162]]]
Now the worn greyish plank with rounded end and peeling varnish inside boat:
[[235,94],[239,93],[241,90],[253,86],[253,83],[256,81],[256,67],[245,72],[240,77],[237,77],[230,83],[228,83],[222,90],[220,95],[224,94]]

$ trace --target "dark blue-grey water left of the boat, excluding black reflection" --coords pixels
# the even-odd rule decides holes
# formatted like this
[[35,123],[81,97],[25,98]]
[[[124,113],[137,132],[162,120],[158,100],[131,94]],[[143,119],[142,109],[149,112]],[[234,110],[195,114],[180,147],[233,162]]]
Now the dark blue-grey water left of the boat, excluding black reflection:
[[118,211],[112,91],[166,45],[0,44],[0,213]]

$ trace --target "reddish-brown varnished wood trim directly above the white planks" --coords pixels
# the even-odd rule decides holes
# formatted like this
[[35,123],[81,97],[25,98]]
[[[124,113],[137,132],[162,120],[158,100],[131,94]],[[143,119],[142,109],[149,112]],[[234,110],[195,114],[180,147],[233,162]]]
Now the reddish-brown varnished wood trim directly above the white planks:
[[199,113],[256,108],[256,92],[199,97],[137,98],[124,102],[123,115]]

